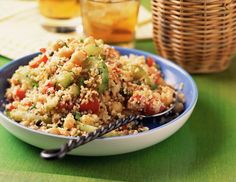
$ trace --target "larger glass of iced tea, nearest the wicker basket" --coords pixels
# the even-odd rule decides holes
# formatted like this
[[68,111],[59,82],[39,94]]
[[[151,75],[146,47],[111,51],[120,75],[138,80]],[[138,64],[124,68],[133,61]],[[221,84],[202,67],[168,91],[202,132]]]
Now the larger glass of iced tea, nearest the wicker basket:
[[84,33],[110,44],[132,43],[139,0],[80,0]]

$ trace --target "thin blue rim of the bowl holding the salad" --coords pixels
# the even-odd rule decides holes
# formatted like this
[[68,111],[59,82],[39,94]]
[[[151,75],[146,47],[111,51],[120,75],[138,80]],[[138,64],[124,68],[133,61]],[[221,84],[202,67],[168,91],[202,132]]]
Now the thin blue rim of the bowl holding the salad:
[[[196,105],[197,103],[197,99],[198,99],[198,90],[197,90],[197,86],[195,84],[195,81],[192,79],[192,77],[189,75],[189,73],[187,73],[183,68],[181,68],[180,66],[178,66],[177,64],[167,60],[167,59],[164,59],[160,56],[157,56],[157,55],[154,55],[152,53],[148,53],[148,52],[145,52],[145,51],[141,51],[141,50],[137,50],[137,49],[129,49],[129,48],[122,48],[122,47],[118,47],[118,46],[112,46],[114,47],[115,49],[117,49],[118,51],[126,51],[126,52],[132,52],[133,54],[135,53],[138,53],[138,54],[142,54],[143,56],[151,56],[152,58],[160,62],[163,62],[164,64],[170,66],[170,67],[174,67],[176,70],[178,70],[179,72],[181,72],[191,83],[191,86],[193,88],[193,97],[194,97],[194,100],[189,104],[189,107],[187,109],[184,110],[183,113],[181,113],[178,117],[176,117],[175,119],[169,121],[168,123],[165,123],[161,126],[158,126],[156,128],[153,128],[151,130],[148,130],[148,131],[144,131],[144,132],[141,132],[141,133],[137,133],[137,134],[132,134],[132,135],[125,135],[125,136],[114,136],[114,137],[107,137],[107,138],[97,138],[96,140],[120,140],[120,139],[127,139],[127,138],[132,138],[132,137],[141,137],[143,135],[147,135],[147,134],[150,134],[150,133],[153,133],[153,132],[156,132],[157,130],[160,130],[161,128],[164,128],[164,127],[168,127],[169,125],[175,123],[175,122],[178,122],[178,120],[182,117],[184,117],[185,115],[188,114],[188,112],[190,112]],[[24,57],[21,57],[19,59],[16,59],[15,61],[18,61],[22,58],[25,58],[25,57],[29,57],[29,56],[37,56],[39,53],[34,53],[34,54],[30,54],[30,55],[27,55],[27,56],[24,56]],[[2,68],[0,68],[0,72],[2,70],[4,70],[6,67],[14,64],[15,61],[12,61],[6,65],[4,65]],[[3,112],[0,111],[0,116],[3,117],[5,120],[7,120],[8,122],[18,126],[18,127],[21,127],[22,129],[26,129],[30,132],[34,132],[36,134],[40,134],[40,135],[46,135],[46,136],[50,136],[50,137],[55,137],[55,138],[61,138],[61,139],[66,139],[66,140],[70,140],[70,139],[78,139],[78,137],[72,137],[72,136],[62,136],[62,135],[54,135],[54,134],[51,134],[51,133],[47,133],[47,132],[44,132],[44,131],[38,131],[38,130],[34,130],[34,129],[31,129],[31,128],[28,128],[26,126],[23,126],[19,123],[17,123],[16,121],[10,119],[9,117],[7,117]]]

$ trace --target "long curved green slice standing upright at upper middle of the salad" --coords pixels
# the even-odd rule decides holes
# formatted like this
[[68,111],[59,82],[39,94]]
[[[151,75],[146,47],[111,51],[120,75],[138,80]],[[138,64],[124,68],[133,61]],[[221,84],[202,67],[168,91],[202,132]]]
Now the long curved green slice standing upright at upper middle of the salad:
[[105,62],[101,61],[98,65],[99,73],[102,77],[102,83],[98,86],[99,93],[104,93],[108,89],[109,77],[108,68]]

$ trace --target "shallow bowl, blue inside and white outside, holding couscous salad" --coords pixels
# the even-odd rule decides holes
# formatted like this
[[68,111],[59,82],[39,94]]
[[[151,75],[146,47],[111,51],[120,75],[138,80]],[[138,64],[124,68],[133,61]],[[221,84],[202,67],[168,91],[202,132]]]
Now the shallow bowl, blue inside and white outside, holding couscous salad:
[[[145,125],[150,128],[149,131],[128,136],[99,138],[73,150],[71,154],[87,156],[114,155],[136,151],[159,143],[181,128],[181,126],[190,117],[196,105],[198,98],[196,84],[191,76],[181,67],[164,58],[144,51],[121,47],[115,47],[115,49],[117,49],[121,55],[135,54],[145,57],[152,57],[160,65],[161,71],[167,83],[173,86],[177,86],[182,83],[184,85],[183,93],[186,99],[185,110],[177,118],[162,125],[158,122],[145,122]],[[9,87],[7,80],[19,66],[28,64],[28,62],[38,54],[39,53],[35,53],[25,56],[0,68],[0,122],[13,135],[31,145],[44,149],[57,148],[67,140],[75,139],[76,137],[59,136],[36,131],[18,124],[3,113],[3,103],[5,102],[4,94],[6,89]]]

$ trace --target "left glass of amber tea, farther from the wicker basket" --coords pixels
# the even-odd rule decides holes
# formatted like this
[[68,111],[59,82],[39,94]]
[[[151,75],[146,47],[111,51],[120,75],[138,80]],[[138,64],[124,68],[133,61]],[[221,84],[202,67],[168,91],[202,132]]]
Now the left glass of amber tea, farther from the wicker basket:
[[80,0],[38,0],[39,12],[45,28],[75,31],[80,16]]

